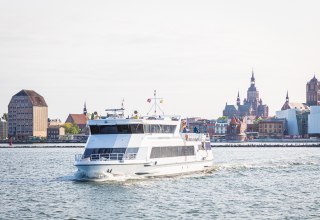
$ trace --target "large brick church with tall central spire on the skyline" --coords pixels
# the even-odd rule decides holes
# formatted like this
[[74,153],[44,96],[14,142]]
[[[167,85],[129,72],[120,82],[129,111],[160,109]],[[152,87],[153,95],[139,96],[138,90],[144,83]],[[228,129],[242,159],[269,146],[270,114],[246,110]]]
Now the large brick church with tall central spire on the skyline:
[[226,103],[225,109],[223,110],[223,116],[228,118],[236,117],[245,117],[245,116],[255,116],[267,118],[269,115],[269,107],[263,104],[262,99],[260,98],[259,91],[255,85],[255,77],[252,71],[251,84],[247,91],[247,98],[243,100],[241,104],[240,94],[238,92],[236,105],[228,105]]

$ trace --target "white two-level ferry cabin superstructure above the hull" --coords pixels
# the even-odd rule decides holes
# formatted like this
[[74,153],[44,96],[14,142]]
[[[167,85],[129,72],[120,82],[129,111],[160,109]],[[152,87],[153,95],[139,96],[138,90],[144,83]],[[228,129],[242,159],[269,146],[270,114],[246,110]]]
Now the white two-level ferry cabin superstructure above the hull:
[[[207,152],[211,151],[210,142],[204,134],[180,134],[180,119],[159,119],[89,121],[91,135],[84,154],[79,155],[78,160],[161,163],[161,159],[165,159],[166,163],[172,163],[210,157]],[[197,153],[199,151],[203,153]]]

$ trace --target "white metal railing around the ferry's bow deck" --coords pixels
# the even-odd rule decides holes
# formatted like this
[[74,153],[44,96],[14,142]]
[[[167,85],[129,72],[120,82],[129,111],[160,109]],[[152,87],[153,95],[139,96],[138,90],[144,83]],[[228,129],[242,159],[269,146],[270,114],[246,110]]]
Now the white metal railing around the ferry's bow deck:
[[136,153],[109,153],[109,154],[91,154],[75,155],[75,161],[90,160],[90,161],[108,161],[108,160],[133,160],[136,159]]

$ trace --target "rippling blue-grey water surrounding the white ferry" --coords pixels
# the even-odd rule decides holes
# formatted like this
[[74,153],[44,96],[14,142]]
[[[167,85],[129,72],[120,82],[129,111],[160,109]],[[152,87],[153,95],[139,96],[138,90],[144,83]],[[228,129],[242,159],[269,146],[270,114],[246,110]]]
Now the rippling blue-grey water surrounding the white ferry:
[[319,219],[320,148],[214,148],[214,170],[76,181],[83,149],[0,149],[0,219]]

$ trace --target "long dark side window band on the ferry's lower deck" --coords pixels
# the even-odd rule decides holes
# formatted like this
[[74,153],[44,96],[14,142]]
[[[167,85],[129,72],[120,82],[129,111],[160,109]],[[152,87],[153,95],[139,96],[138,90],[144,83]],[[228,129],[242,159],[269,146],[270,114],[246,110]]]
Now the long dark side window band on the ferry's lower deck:
[[193,156],[194,146],[153,147],[150,158]]

